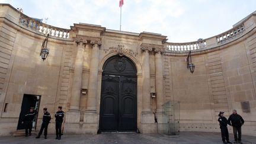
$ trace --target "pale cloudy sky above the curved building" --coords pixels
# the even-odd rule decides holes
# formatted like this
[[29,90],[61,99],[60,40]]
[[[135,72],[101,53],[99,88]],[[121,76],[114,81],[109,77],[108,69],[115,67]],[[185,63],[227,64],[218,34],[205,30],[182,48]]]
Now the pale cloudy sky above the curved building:
[[[70,28],[74,23],[119,30],[119,0],[0,0],[25,15]],[[256,11],[255,0],[124,0],[121,31],[168,36],[168,42],[207,39],[232,28]]]

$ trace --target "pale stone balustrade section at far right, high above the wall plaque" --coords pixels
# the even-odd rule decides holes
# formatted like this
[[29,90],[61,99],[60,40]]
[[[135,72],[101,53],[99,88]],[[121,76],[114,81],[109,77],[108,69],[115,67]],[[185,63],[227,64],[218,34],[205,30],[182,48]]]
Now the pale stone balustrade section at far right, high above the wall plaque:
[[238,37],[245,31],[244,24],[239,25],[238,27],[234,27],[229,31],[226,31],[225,33],[219,34],[216,36],[217,43],[225,43],[227,41],[230,41],[234,39],[235,37]]

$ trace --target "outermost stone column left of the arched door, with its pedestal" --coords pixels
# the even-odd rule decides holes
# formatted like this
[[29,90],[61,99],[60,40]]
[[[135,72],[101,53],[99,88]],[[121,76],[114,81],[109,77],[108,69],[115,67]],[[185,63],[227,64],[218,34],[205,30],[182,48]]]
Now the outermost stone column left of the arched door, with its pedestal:
[[78,123],[80,121],[80,94],[82,88],[82,68],[83,68],[83,53],[84,44],[77,42],[77,52],[75,60],[75,71],[73,74],[71,101],[69,111],[66,114],[66,121],[68,123]]

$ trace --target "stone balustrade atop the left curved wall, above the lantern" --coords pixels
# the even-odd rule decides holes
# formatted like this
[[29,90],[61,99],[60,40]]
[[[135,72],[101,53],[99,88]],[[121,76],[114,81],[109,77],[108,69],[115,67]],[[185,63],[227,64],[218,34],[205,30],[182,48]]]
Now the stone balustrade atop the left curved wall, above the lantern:
[[51,37],[57,39],[68,39],[69,29],[53,27],[52,25],[41,23],[21,13],[19,24],[25,28],[35,31],[41,34],[50,34]]

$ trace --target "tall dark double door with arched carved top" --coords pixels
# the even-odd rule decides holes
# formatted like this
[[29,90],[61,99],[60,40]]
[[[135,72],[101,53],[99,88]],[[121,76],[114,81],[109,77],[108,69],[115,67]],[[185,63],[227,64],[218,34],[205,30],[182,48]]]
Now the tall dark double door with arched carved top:
[[101,132],[137,130],[137,70],[127,57],[113,56],[103,65]]

